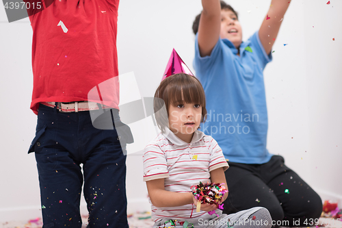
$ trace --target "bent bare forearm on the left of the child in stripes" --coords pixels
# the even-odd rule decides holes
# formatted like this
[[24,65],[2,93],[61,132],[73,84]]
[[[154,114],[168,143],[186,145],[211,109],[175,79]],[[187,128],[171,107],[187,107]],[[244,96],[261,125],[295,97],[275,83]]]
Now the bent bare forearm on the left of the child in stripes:
[[169,192],[164,188],[164,179],[146,181],[150,201],[156,207],[179,207],[193,203],[191,192]]

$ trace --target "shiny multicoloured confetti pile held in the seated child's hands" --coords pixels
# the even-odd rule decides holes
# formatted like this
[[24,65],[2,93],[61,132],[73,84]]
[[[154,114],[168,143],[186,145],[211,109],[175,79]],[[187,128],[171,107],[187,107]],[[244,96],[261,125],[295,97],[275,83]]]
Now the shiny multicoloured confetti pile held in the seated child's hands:
[[[192,194],[194,194],[194,197],[198,200],[196,212],[200,212],[201,203],[215,204],[219,209],[223,210],[222,205],[219,205],[218,203],[228,190],[226,190],[222,185],[224,185],[224,183],[217,184],[200,182],[197,186],[192,186]],[[215,211],[208,213],[214,214]]]

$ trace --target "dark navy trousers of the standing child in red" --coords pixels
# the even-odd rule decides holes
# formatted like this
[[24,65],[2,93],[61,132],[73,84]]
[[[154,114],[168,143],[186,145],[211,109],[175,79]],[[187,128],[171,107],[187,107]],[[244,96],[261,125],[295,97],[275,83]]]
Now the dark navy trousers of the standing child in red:
[[[118,112],[112,112],[113,121],[120,121]],[[116,129],[96,129],[90,112],[65,113],[40,105],[29,153],[36,154],[43,228],[81,227],[83,181],[88,227],[128,228],[122,149]]]

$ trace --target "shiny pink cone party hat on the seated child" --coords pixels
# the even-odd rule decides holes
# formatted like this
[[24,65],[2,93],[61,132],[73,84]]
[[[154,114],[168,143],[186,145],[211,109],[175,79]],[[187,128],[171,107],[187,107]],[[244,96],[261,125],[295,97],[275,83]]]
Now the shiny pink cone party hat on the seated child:
[[166,79],[166,77],[169,77],[171,75],[177,74],[177,73],[186,73],[188,75],[194,76],[194,74],[190,71],[189,67],[183,62],[181,57],[179,57],[176,50],[172,50],[170,60],[168,62],[168,65],[166,66],[163,79]]

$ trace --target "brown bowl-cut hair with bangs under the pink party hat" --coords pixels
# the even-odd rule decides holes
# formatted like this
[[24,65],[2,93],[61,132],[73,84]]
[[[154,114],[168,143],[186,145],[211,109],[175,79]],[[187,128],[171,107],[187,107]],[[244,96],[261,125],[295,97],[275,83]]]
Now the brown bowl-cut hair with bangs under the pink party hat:
[[168,127],[169,106],[183,103],[201,105],[202,117],[200,122],[205,122],[207,117],[205,90],[203,90],[200,81],[196,77],[185,73],[178,73],[163,79],[155,91],[155,99],[153,101],[155,120],[161,132],[165,132],[165,127]]

